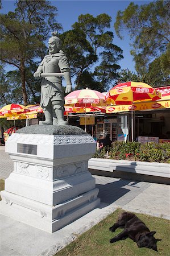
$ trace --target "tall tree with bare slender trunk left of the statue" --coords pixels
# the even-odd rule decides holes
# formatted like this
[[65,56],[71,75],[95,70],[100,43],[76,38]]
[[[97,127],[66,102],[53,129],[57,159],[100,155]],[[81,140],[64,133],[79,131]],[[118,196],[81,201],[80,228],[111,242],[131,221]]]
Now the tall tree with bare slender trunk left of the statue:
[[57,9],[44,0],[16,1],[16,9],[0,17],[0,60],[20,72],[23,104],[27,105],[26,72],[37,57],[43,58],[50,30],[59,31]]

